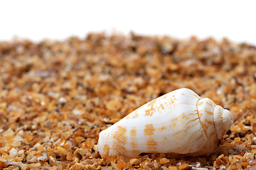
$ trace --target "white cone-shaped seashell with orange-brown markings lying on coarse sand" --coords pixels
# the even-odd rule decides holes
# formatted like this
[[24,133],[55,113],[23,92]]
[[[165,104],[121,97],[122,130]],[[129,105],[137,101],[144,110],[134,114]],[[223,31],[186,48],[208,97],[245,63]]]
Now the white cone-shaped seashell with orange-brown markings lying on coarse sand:
[[127,160],[141,153],[210,154],[233,124],[230,111],[190,89],[171,91],[100,132],[100,154]]

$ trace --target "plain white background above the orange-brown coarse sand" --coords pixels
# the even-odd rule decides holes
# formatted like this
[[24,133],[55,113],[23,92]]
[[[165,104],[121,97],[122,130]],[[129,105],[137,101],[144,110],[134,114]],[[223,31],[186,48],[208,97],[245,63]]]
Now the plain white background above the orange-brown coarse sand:
[[0,1],[0,41],[65,40],[105,31],[200,39],[226,37],[256,45],[256,1]]

